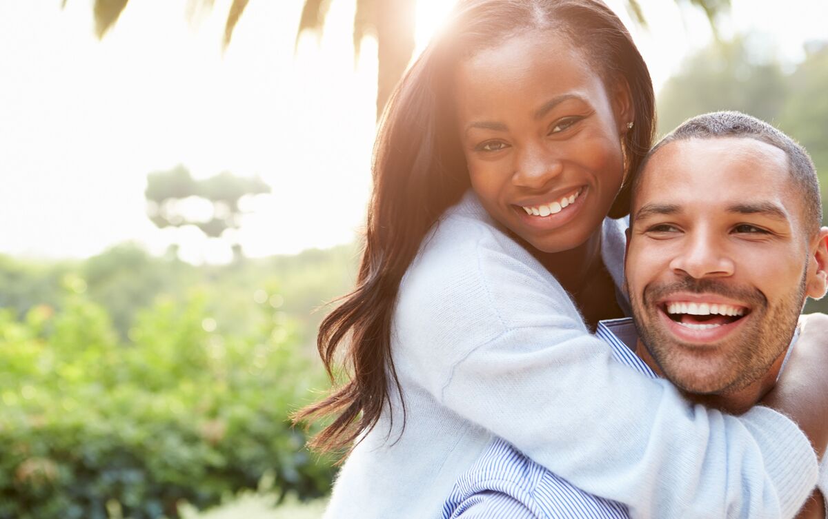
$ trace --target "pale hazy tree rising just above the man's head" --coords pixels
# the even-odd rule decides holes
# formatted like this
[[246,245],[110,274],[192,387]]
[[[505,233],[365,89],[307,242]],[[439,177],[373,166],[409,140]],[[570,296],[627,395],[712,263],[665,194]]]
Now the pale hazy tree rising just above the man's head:
[[700,113],[739,110],[777,121],[788,97],[788,80],[773,57],[751,50],[748,38],[716,42],[689,57],[658,96],[659,133]]

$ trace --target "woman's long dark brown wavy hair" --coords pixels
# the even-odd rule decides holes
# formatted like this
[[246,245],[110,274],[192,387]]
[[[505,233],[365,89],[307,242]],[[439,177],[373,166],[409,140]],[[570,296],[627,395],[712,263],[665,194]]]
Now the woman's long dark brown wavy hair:
[[652,143],[655,103],[647,65],[623,23],[600,0],[460,0],[450,24],[397,85],[379,126],[357,285],[325,317],[317,338],[330,379],[343,354],[349,379],[294,417],[333,418],[311,448],[349,450],[377,425],[383,407],[390,411],[392,383],[402,396],[391,356],[400,282],[431,226],[469,188],[450,101],[452,71],[475,52],[534,29],[570,40],[608,91],[619,81],[628,85],[635,109],[633,129],[623,137],[628,174],[609,214],[628,213],[632,174]]

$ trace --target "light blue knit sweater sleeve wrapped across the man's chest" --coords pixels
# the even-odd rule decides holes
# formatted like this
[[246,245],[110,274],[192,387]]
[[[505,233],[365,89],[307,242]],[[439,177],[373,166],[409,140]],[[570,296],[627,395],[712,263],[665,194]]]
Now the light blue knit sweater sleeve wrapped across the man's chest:
[[401,286],[394,355],[442,405],[631,517],[796,515],[817,463],[787,417],[693,406],[617,363],[531,258],[430,246]]

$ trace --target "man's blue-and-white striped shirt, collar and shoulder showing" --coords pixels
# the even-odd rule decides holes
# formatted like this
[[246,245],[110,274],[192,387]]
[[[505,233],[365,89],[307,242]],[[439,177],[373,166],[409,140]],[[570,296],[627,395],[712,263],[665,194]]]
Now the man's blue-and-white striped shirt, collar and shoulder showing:
[[[614,358],[621,364],[657,378],[635,355],[638,333],[632,319],[600,321],[595,335],[612,347]],[[792,343],[798,335],[797,328]],[[788,348],[788,354],[791,350]],[[628,519],[629,515],[622,503],[586,493],[527,458],[507,441],[495,438],[455,483],[443,504],[442,518]]]

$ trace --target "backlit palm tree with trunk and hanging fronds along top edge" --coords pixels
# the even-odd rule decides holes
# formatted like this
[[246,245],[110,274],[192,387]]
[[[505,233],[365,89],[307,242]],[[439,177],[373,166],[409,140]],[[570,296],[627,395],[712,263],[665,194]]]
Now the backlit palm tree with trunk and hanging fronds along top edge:
[[[325,15],[333,0],[303,0],[298,40],[302,31],[322,31]],[[678,4],[698,7],[705,12],[715,31],[715,23],[729,10],[730,0],[674,0]],[[66,0],[64,0],[65,4]],[[94,15],[98,36],[108,31],[123,12],[128,0],[95,0]],[[214,0],[190,0],[213,7]],[[405,72],[414,52],[414,18],[417,0],[356,0],[354,14],[354,50],[359,55],[363,36],[376,36],[378,45],[377,117],[383,112],[394,86]],[[638,0],[624,0],[627,11],[642,26],[647,17]],[[233,0],[224,25],[224,45],[229,45],[233,29],[242,16],[248,0]]]

